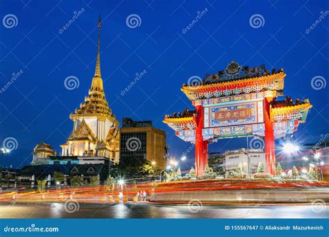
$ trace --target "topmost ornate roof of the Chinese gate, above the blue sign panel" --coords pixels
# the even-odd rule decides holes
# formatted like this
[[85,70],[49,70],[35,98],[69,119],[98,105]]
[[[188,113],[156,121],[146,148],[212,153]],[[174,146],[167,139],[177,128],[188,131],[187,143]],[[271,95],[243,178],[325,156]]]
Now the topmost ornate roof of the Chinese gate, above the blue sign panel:
[[188,85],[183,84],[181,90],[189,100],[267,90],[282,91],[285,76],[283,69],[272,69],[270,72],[264,65],[253,68],[241,67],[232,61],[223,71],[206,75],[203,80],[194,78]]

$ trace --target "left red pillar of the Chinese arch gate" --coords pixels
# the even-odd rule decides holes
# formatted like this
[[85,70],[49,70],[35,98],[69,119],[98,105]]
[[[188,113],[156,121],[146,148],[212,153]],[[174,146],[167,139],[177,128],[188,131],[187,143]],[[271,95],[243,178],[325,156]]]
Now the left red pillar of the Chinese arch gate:
[[202,129],[203,129],[203,106],[196,105],[196,114],[194,115],[194,125],[195,125],[195,171],[196,176],[202,176],[205,170],[205,165],[208,156],[205,155],[205,149],[208,154],[208,146],[205,148],[205,142],[203,141]]

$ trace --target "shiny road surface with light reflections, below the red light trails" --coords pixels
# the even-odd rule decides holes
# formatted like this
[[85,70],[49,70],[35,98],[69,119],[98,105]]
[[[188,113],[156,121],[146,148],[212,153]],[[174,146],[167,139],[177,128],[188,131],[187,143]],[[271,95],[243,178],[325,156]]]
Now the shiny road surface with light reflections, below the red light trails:
[[167,206],[149,203],[86,204],[0,203],[0,218],[328,218],[329,207],[275,206]]

